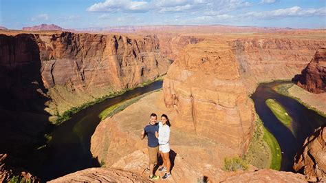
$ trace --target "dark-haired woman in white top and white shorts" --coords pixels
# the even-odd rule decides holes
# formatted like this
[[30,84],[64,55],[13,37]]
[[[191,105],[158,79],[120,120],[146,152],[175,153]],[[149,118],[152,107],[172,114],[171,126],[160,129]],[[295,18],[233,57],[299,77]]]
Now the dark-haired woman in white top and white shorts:
[[171,161],[170,161],[170,121],[168,116],[165,114],[162,114],[161,121],[158,123],[159,129],[158,133],[155,133],[155,136],[158,138],[159,151],[160,155],[163,159],[163,166],[158,169],[159,171],[166,171],[165,175],[162,177],[162,179],[167,179],[171,177]]

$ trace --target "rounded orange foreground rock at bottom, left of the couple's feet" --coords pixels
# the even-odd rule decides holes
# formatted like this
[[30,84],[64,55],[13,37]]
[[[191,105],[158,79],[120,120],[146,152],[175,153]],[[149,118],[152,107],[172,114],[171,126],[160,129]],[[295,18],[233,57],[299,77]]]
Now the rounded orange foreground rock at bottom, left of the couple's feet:
[[91,168],[76,171],[50,182],[151,182],[147,178],[119,169]]

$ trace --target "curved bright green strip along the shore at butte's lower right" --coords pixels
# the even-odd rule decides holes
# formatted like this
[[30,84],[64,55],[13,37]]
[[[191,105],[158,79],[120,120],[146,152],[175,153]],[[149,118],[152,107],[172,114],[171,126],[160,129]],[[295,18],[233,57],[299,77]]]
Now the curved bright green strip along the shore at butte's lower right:
[[279,170],[281,169],[282,160],[281,147],[279,146],[279,142],[277,142],[276,138],[267,129],[263,128],[263,132],[263,140],[268,144],[268,147],[270,147],[270,155],[272,156],[270,169]]

